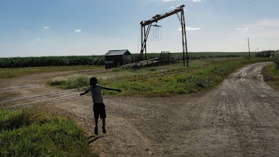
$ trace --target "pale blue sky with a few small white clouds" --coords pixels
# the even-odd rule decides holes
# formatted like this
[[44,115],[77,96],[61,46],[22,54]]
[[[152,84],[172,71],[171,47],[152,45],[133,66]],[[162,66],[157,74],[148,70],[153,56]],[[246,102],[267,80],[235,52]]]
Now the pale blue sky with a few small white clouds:
[[[188,52],[279,49],[278,0],[1,0],[0,57],[140,53],[140,22],[185,5]],[[151,28],[147,52],[182,52],[176,15]]]

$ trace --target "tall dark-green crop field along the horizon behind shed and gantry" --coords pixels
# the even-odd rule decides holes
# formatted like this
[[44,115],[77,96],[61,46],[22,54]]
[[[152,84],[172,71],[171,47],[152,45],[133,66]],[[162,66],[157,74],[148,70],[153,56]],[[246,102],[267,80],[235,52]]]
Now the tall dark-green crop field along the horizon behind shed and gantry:
[[[189,52],[188,59],[244,57],[246,52]],[[137,61],[139,54],[132,54],[132,61]],[[149,53],[147,59],[160,57],[160,53]],[[172,53],[172,57],[182,58],[182,53]],[[23,68],[38,66],[90,66],[105,65],[105,56],[58,56],[58,57],[11,57],[0,58],[0,68]]]

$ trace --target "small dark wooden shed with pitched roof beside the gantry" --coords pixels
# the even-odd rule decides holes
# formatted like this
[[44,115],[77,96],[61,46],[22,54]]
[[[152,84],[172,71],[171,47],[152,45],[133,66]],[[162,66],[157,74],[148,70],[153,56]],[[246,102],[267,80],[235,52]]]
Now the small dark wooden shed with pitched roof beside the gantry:
[[132,63],[132,54],[128,50],[110,50],[105,54],[105,68],[115,68]]

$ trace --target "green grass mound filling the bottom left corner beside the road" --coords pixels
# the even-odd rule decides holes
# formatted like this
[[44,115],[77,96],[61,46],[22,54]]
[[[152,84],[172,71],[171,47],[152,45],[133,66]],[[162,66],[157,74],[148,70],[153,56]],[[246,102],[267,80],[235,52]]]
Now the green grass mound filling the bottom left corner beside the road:
[[0,156],[98,156],[74,121],[38,110],[0,110]]

